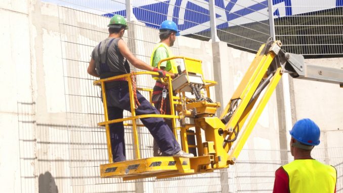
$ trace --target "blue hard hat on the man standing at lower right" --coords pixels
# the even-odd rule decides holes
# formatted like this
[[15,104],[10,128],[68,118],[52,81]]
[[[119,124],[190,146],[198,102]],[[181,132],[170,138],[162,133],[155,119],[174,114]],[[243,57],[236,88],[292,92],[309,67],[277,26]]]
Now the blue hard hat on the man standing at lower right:
[[320,129],[310,119],[302,119],[297,121],[289,134],[297,141],[306,145],[319,145]]

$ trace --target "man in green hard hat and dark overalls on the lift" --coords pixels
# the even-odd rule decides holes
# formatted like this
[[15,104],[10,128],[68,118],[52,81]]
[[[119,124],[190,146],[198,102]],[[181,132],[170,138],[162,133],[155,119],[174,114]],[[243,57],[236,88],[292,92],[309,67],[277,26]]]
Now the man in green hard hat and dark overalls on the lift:
[[[87,70],[89,74],[100,79],[106,79],[111,76],[130,73],[128,62],[139,69],[158,72],[160,78],[164,78],[166,73],[170,73],[146,64],[131,53],[122,40],[125,30],[128,29],[125,18],[114,15],[108,27],[109,36],[101,41],[92,52],[92,59]],[[123,110],[131,111],[127,81],[125,79],[116,79],[106,83],[105,88],[108,119],[122,119]],[[138,91],[136,94],[140,102],[136,109],[137,115],[159,114],[158,110]],[[148,128],[166,156],[193,157],[193,155],[181,150],[173,132],[170,131],[162,118],[145,118],[141,119],[141,121]],[[113,162],[125,161],[124,126],[122,122],[110,125],[110,140]]]

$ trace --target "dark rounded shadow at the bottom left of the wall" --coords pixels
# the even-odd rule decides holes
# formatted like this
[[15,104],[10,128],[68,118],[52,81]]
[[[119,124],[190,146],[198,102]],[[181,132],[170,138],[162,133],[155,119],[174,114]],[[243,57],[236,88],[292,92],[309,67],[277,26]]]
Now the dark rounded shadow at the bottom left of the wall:
[[50,172],[39,175],[38,188],[39,193],[58,193],[55,178],[53,178]]

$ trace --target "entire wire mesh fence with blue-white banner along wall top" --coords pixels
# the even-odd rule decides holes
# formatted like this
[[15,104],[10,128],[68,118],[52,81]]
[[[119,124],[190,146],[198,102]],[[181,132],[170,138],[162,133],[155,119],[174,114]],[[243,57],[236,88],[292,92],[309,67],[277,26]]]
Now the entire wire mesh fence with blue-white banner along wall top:
[[[46,0],[56,2],[53,0]],[[59,0],[61,5],[98,15],[127,16],[148,27],[158,28],[166,19],[177,23],[182,35],[210,40],[216,22],[217,36],[238,49],[256,52],[271,34],[284,44],[287,52],[306,57],[339,56],[343,54],[343,3],[341,1],[261,1],[214,0],[215,21],[210,20],[208,0]],[[272,10],[268,10],[272,2]],[[127,4],[132,5],[126,6]],[[310,4],[311,6],[308,6]],[[269,11],[273,13],[269,14]],[[270,27],[269,17],[274,25]],[[272,29],[275,32],[270,32]]]

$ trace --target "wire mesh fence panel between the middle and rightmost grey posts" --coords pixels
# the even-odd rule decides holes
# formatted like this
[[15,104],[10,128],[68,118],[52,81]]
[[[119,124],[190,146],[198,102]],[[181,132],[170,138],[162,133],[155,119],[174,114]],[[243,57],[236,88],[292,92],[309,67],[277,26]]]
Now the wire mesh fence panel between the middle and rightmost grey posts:
[[270,37],[267,1],[230,1],[225,8],[217,6],[217,12],[226,17],[217,18],[217,34],[229,45],[256,51]]

